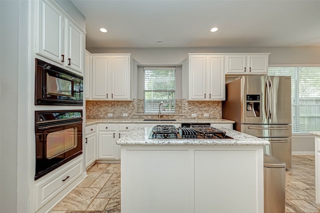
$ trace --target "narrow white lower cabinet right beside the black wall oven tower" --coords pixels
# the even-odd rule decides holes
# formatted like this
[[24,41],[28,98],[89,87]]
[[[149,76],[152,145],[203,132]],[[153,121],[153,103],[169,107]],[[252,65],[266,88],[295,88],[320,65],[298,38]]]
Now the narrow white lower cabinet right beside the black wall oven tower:
[[85,127],[84,162],[89,167],[96,159],[96,125]]

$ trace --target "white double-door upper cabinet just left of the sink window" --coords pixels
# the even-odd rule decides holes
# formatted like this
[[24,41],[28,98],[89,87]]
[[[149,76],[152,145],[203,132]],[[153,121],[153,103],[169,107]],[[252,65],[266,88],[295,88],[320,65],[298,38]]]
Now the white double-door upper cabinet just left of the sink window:
[[130,100],[130,54],[92,54],[92,99]]

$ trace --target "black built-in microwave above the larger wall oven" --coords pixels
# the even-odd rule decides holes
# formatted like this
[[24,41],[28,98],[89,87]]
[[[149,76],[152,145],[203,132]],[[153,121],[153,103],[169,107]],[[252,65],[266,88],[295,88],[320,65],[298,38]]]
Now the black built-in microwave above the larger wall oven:
[[82,105],[83,77],[35,58],[34,104]]

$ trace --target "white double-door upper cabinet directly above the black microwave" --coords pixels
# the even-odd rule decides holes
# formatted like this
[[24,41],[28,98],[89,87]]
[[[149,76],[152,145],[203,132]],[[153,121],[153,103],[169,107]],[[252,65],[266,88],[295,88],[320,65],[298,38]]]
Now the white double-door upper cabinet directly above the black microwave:
[[84,30],[51,0],[37,1],[36,53],[83,73]]

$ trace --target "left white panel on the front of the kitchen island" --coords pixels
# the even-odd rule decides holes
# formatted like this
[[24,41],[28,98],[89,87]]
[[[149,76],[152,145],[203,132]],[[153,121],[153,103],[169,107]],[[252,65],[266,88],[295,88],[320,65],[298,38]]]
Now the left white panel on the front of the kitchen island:
[[121,212],[192,212],[188,150],[127,150],[126,159]]

